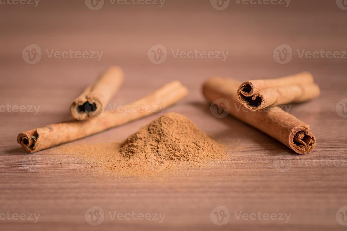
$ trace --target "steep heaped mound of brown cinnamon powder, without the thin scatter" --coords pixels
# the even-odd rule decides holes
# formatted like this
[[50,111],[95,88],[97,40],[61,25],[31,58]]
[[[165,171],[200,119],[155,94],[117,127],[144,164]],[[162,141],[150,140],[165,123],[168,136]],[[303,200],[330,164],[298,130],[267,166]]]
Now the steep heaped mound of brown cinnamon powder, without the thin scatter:
[[190,119],[168,113],[130,135],[120,148],[127,158],[198,161],[219,157],[224,148]]

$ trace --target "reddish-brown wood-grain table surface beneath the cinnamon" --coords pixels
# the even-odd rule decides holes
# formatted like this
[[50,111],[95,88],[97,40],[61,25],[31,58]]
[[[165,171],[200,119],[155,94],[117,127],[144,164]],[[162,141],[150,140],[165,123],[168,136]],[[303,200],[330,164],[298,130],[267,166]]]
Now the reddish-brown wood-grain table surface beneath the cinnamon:
[[[224,10],[198,0],[166,0],[162,7],[104,1],[99,10],[88,9],[84,1],[67,0],[42,0],[37,7],[11,1],[0,5],[0,105],[7,106],[0,108],[0,229],[346,230],[347,10],[338,6],[339,1],[293,0],[288,7],[237,2],[230,1]],[[36,64],[22,56],[30,44],[42,51]],[[167,49],[161,64],[147,56],[156,44]],[[292,48],[293,58],[286,64],[273,56],[281,44]],[[70,49],[103,54],[99,61],[49,56],[52,50]],[[175,57],[177,50],[195,49],[229,53],[225,61]],[[300,57],[302,52],[321,50],[342,57]],[[190,118],[227,146],[228,158],[221,165],[144,180],[115,178],[69,161],[60,164],[57,160],[73,153],[67,157],[50,149],[33,154],[40,161],[30,170],[24,161],[28,156],[16,142],[18,133],[69,119],[73,99],[113,64],[124,69],[126,79],[112,104],[133,101],[180,80],[189,95],[165,112]],[[214,117],[201,93],[202,83],[212,75],[244,81],[304,70],[314,75],[322,91],[317,99],[290,105],[290,113],[309,124],[317,139],[307,155],[295,154],[230,116]],[[22,105],[25,112],[15,112]],[[40,106],[38,113],[30,109],[33,106]],[[158,116],[74,143],[122,141]],[[104,211],[98,226],[87,222],[93,206]],[[161,223],[136,217],[112,220],[115,211],[166,215]],[[216,221],[214,212],[225,217]],[[7,217],[9,213],[25,215],[15,220],[16,215]],[[40,213],[38,221],[28,213]],[[279,219],[281,213],[290,218]],[[247,214],[255,219],[247,219]],[[266,214],[277,218],[266,219]]]

